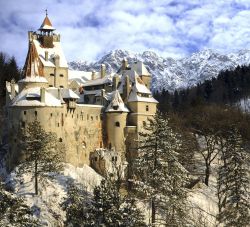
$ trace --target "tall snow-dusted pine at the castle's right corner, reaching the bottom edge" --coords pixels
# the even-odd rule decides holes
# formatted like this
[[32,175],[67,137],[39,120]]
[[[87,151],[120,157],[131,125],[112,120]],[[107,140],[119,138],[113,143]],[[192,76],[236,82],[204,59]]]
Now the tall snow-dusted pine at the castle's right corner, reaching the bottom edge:
[[[136,177],[138,189],[151,200],[151,222],[157,224],[156,214],[165,212],[165,221],[173,220],[175,226],[186,219],[187,172],[178,161],[180,140],[159,112],[140,133]],[[156,205],[157,204],[157,205]],[[171,209],[169,209],[171,208]],[[174,223],[174,224],[175,224]]]

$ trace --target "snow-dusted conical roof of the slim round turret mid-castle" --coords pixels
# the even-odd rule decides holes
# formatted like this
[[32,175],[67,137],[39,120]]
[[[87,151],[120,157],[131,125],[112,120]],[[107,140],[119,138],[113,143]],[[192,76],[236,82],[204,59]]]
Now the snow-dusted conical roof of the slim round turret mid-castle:
[[118,90],[112,92],[112,100],[105,112],[129,112],[125,106]]

